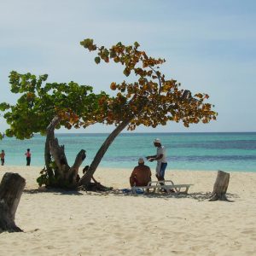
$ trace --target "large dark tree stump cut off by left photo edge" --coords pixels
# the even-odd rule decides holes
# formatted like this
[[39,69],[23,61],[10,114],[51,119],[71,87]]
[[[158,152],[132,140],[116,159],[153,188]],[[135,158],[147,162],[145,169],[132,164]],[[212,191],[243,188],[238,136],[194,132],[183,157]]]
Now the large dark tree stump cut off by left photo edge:
[[15,212],[26,180],[18,173],[6,172],[0,183],[0,233],[22,232],[15,224]]

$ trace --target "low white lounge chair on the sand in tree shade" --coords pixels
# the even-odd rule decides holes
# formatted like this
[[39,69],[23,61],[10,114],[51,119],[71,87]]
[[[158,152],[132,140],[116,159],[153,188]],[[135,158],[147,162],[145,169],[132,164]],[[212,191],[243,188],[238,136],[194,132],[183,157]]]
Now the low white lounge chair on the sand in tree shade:
[[142,187],[131,187],[133,194],[136,194],[136,189],[143,189],[144,192],[149,192],[153,189],[153,192],[159,192],[160,189],[165,189],[167,193],[183,193],[188,194],[189,187],[193,184],[174,184],[172,180],[159,180],[159,181],[150,181],[147,186]]

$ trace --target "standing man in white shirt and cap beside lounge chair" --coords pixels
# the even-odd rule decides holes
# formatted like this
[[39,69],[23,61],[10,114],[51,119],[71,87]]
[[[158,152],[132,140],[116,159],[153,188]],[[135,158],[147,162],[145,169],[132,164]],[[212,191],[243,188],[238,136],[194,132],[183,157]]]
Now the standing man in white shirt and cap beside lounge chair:
[[153,162],[154,160],[157,161],[155,176],[157,177],[158,180],[165,180],[165,172],[167,166],[166,148],[161,145],[159,138],[156,138],[153,143],[154,147],[157,148],[156,154],[148,155],[147,159],[150,162]]

